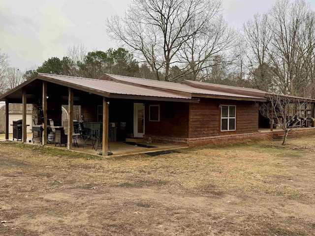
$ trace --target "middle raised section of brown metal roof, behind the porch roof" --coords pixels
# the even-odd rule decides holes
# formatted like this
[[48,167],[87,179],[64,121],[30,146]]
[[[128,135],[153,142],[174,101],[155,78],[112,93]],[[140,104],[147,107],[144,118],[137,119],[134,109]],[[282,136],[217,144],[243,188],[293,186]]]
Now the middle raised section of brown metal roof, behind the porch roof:
[[246,100],[261,100],[263,97],[261,96],[250,96],[244,94],[237,94],[227,91],[216,91],[210,89],[200,89],[194,88],[189,85],[180,84],[180,83],[173,83],[173,82],[165,82],[165,81],[158,81],[158,80],[148,80],[142,78],[134,78],[122,75],[111,75],[105,74],[100,78],[101,80],[111,80],[120,83],[126,83],[129,85],[147,87],[147,88],[154,88],[154,89],[161,89],[163,91],[169,92],[180,92],[180,93],[187,93],[191,94],[192,97],[218,97],[223,99],[246,99]]

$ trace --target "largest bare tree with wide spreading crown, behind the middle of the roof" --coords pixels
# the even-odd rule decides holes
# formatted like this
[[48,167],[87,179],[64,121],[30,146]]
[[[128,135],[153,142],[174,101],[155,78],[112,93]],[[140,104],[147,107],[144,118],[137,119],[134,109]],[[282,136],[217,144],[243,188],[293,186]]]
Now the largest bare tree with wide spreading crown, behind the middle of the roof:
[[[221,15],[220,7],[221,0],[133,0],[124,18],[112,16],[107,19],[107,32],[112,39],[137,53],[155,72],[157,80],[169,81],[170,68],[185,59],[189,60],[185,66],[189,65],[194,59],[191,55],[199,54],[196,48],[202,52],[202,60],[213,56],[218,50],[210,50],[211,43],[216,40],[200,39],[202,35],[206,39],[209,26],[215,26],[213,22],[217,22]],[[216,32],[220,33],[218,30]],[[212,39],[216,36],[217,42],[220,42],[220,35],[215,33]],[[195,44],[190,56],[184,53],[189,42]],[[202,49],[202,45],[206,50]],[[195,63],[189,69],[198,71],[193,66]]]

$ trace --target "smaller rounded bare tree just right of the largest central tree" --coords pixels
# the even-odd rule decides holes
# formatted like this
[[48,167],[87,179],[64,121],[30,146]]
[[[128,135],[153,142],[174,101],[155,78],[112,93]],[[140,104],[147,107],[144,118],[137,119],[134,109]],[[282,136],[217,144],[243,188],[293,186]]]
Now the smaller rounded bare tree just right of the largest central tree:
[[230,64],[234,59],[230,52],[237,46],[236,38],[237,32],[222,17],[214,17],[203,30],[183,43],[178,61],[187,65],[183,70],[184,76],[203,80],[207,76],[203,72],[211,70],[210,67]]

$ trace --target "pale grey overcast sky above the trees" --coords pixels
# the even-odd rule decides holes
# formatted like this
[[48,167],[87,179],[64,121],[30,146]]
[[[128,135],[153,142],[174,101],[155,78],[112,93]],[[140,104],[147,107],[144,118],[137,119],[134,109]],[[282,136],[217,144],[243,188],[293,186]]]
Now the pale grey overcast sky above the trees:
[[[276,0],[222,0],[227,22],[241,28]],[[309,0],[315,9],[315,0]],[[123,15],[130,0],[0,0],[0,49],[20,70],[62,58],[68,47],[88,51],[116,48],[105,32],[105,19]]]

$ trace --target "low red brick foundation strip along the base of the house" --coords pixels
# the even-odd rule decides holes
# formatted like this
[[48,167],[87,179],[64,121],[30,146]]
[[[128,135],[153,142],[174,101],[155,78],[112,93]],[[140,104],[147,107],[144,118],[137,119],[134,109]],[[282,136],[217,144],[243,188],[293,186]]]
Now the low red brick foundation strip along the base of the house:
[[[306,135],[315,135],[315,127],[312,128],[296,128],[288,133],[288,137],[302,137]],[[184,145],[189,147],[203,145],[223,145],[223,144],[239,144],[253,140],[282,139],[284,137],[283,130],[255,132],[248,134],[232,134],[221,136],[210,136],[202,138],[176,138],[167,136],[144,135],[145,141],[155,143],[170,143]]]

